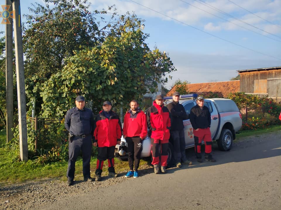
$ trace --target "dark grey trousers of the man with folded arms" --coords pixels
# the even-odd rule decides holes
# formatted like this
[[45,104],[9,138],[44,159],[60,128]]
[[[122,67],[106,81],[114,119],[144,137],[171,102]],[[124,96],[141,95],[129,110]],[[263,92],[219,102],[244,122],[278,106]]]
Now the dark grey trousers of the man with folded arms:
[[170,131],[170,134],[173,140],[175,163],[186,161],[184,129]]

